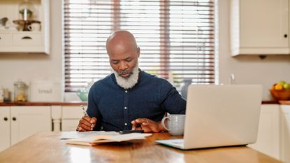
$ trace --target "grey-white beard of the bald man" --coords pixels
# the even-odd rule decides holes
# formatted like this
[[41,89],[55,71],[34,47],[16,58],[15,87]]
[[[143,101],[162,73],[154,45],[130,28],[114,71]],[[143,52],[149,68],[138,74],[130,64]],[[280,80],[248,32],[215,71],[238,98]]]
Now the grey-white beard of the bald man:
[[116,77],[117,85],[124,88],[125,90],[132,88],[136,83],[138,83],[139,78],[139,71],[138,71],[138,62],[136,66],[133,68],[131,75],[129,78],[123,78],[122,76],[119,76],[119,73],[113,69],[113,72]]

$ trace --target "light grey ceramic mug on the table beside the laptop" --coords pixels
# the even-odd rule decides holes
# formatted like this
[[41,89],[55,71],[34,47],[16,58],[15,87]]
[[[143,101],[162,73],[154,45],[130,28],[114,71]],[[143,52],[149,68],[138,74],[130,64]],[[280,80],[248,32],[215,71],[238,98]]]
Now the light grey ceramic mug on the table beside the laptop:
[[[165,120],[168,119],[167,125]],[[171,114],[164,117],[161,121],[162,126],[171,135],[183,135],[184,132],[185,115],[184,114]]]

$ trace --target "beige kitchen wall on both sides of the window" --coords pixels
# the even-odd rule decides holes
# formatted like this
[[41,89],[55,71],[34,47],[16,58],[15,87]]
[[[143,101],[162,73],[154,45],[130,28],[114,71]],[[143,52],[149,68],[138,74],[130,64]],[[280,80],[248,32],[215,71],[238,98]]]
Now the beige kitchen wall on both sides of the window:
[[[219,83],[229,84],[235,74],[237,84],[262,84],[263,100],[271,99],[268,88],[279,80],[290,82],[290,55],[231,57],[229,44],[229,2],[219,0]],[[33,78],[63,80],[61,55],[61,1],[50,1],[50,55],[0,54],[0,86],[13,90],[18,78],[29,83]]]

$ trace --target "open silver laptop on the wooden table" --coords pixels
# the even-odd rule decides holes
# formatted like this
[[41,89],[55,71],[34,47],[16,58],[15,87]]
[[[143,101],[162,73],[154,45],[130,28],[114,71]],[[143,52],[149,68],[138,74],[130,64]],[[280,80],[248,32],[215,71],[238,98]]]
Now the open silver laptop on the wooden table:
[[255,143],[261,98],[261,85],[189,85],[183,139],[156,142],[182,150]]

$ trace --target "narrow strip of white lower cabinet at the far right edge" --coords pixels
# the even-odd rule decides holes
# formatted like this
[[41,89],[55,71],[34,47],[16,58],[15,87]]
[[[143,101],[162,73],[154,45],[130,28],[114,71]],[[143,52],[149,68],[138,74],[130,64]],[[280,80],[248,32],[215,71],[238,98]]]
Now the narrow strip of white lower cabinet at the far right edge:
[[281,105],[281,160],[290,162],[290,105]]

